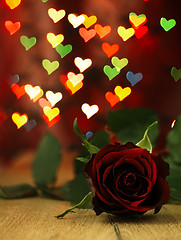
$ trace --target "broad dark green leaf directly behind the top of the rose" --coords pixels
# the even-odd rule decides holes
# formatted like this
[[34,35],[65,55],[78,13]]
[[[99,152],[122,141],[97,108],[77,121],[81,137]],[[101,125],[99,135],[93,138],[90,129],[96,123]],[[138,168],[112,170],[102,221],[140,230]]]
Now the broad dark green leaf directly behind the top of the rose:
[[[144,131],[153,122],[158,120],[158,116],[150,109],[121,109],[108,112],[108,126],[116,134],[122,143],[137,143]],[[149,134],[150,141],[154,146],[158,138],[158,127],[154,127]]]

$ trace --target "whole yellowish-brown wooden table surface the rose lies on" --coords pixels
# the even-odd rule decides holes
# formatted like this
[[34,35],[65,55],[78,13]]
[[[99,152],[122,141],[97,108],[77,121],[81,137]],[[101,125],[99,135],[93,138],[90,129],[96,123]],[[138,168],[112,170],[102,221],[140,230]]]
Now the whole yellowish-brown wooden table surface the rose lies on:
[[[0,184],[32,182],[28,158],[0,174]],[[24,169],[22,171],[22,169]],[[25,170],[26,169],[26,170]],[[72,174],[65,176],[72,178]],[[116,217],[106,213],[96,216],[93,210],[75,209],[63,219],[55,216],[69,202],[43,197],[18,200],[0,199],[1,240],[180,240],[181,205],[164,205],[139,217]]]

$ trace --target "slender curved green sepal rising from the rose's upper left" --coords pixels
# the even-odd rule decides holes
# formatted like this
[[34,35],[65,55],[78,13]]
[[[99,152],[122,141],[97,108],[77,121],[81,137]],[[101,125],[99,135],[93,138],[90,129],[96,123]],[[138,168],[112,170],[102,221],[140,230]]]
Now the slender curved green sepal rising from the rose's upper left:
[[77,125],[77,118],[74,120],[73,124],[74,132],[79,136],[83,141],[83,146],[87,148],[90,154],[97,153],[100,149],[96,146],[92,145],[90,142],[87,141],[87,138],[80,132],[78,125]]

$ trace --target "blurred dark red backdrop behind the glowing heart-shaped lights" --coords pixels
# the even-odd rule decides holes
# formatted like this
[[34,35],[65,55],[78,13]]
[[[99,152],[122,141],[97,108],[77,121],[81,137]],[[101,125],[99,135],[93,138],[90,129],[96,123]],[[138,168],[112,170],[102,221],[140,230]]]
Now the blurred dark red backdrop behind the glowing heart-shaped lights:
[[[122,108],[144,107],[154,110],[160,118],[160,136],[158,147],[165,144],[171,123],[181,113],[181,82],[171,76],[171,69],[180,68],[180,10],[179,0],[21,0],[11,9],[13,1],[2,0],[0,4],[0,163],[11,162],[19,153],[35,150],[46,132],[57,136],[65,149],[76,149],[80,141],[73,132],[73,120],[77,117],[81,130],[95,132],[104,129],[107,112]],[[16,2],[16,0],[15,0]],[[64,9],[66,15],[54,23],[48,15],[48,9]],[[123,41],[117,33],[119,26],[130,28],[129,14],[145,14],[148,32],[137,39],[135,36]],[[96,16],[97,24],[111,26],[111,33],[100,39],[98,35],[85,42],[67,16],[86,14]],[[175,19],[176,26],[166,32],[160,25],[160,19]],[[20,29],[9,33],[5,21],[20,22]],[[89,29],[94,29],[93,24]],[[64,58],[47,41],[47,33],[63,34],[62,44],[71,44],[72,52]],[[29,50],[20,42],[21,36],[36,37],[36,44]],[[103,72],[105,65],[111,64],[102,50],[102,43],[118,44],[119,51],[114,55],[128,59],[128,65],[120,74],[109,81]],[[84,74],[83,87],[71,94],[65,81],[68,72],[78,74],[74,58],[90,58],[92,66]],[[47,74],[42,60],[59,61],[59,68]],[[134,86],[126,78],[126,73],[142,73],[143,79]],[[44,94],[50,90],[61,92],[62,99],[55,107],[60,110],[60,119],[50,126],[43,117],[39,101],[33,102],[27,94],[17,98],[12,85],[19,87],[31,84],[40,86]],[[111,107],[105,94],[119,85],[130,87],[132,93],[123,101]],[[46,98],[45,95],[42,98]],[[82,112],[81,106],[97,104],[99,111],[90,119]],[[29,128],[17,129],[12,114],[27,114]]]

